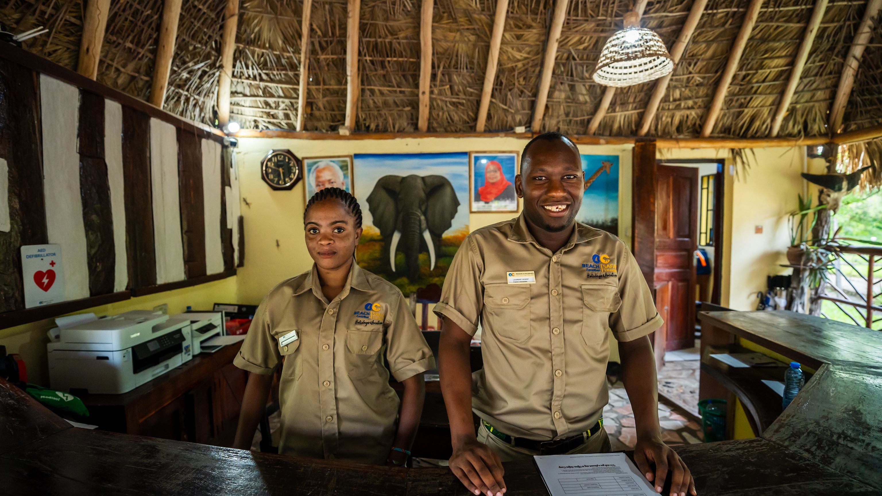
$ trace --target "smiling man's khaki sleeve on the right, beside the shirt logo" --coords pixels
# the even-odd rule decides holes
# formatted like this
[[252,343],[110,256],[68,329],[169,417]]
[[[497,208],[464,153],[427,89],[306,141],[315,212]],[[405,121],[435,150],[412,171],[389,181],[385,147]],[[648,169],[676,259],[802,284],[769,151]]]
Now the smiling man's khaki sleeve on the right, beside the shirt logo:
[[655,309],[653,293],[643,278],[631,250],[624,248],[618,270],[618,295],[622,305],[609,315],[609,328],[618,341],[632,341],[662,327],[662,315]]

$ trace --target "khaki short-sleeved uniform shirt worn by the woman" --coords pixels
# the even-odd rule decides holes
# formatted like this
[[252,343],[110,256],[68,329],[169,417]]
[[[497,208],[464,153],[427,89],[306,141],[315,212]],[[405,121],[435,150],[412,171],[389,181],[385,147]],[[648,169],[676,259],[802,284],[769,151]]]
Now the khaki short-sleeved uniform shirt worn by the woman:
[[404,381],[435,368],[398,288],[355,263],[333,301],[315,265],[266,295],[233,363],[272,374],[283,358],[279,453],[375,464],[397,429],[390,371]]

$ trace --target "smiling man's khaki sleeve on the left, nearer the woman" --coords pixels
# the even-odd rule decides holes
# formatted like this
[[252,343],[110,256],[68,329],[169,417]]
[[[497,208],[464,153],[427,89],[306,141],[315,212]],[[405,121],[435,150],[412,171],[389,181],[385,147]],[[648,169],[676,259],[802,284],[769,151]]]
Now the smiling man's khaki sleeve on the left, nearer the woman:
[[483,309],[482,271],[483,264],[478,256],[475,239],[467,236],[453,256],[445,277],[444,289],[441,291],[441,300],[435,305],[434,311],[438,318],[449,318],[469,336],[475,336]]

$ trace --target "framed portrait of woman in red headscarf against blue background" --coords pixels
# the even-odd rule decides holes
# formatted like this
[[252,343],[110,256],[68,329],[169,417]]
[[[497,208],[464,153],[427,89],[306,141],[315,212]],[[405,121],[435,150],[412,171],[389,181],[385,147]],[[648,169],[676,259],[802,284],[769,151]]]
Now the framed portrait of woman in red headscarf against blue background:
[[518,194],[514,191],[518,160],[518,152],[468,153],[469,211],[518,211]]

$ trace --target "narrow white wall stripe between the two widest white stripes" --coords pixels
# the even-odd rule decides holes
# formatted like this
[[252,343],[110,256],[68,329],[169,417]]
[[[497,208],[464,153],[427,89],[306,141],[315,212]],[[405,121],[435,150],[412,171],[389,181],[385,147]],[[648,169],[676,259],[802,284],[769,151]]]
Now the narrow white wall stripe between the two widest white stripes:
[[114,291],[129,284],[128,254],[125,249],[125,200],[123,181],[123,106],[104,100],[104,161],[108,165],[110,213],[113,217],[113,243],[116,255]]

